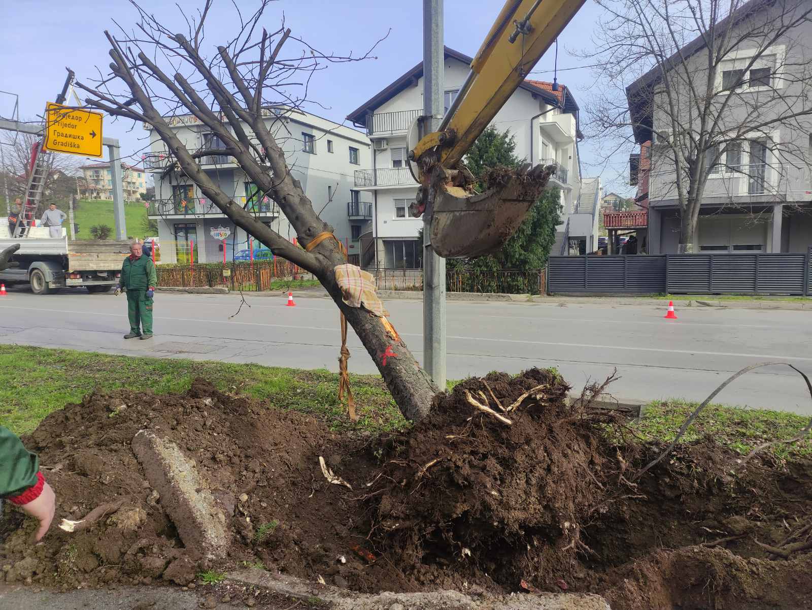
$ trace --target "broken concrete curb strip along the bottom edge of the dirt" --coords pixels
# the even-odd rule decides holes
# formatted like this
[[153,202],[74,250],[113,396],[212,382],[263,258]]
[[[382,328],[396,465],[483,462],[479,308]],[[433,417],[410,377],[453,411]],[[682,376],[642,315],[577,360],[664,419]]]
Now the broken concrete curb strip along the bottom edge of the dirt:
[[292,598],[317,597],[333,604],[332,610],[611,610],[600,595],[584,593],[482,595],[477,598],[457,591],[363,595],[257,569],[229,573],[227,580]]

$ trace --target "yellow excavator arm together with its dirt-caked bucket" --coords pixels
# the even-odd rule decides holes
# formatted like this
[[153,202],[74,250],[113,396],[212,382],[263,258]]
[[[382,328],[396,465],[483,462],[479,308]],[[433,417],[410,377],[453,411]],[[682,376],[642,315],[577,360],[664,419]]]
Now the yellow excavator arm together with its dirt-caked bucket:
[[499,250],[546,186],[550,171],[525,166],[516,174],[496,176],[493,188],[477,194],[461,162],[583,4],[508,0],[439,130],[409,151],[421,183],[412,215],[431,214],[431,244],[440,256],[476,257]]

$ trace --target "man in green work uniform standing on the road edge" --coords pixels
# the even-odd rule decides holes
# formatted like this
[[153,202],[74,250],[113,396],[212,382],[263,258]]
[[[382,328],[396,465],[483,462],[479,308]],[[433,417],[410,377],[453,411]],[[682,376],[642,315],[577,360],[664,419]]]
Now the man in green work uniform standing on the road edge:
[[152,259],[143,255],[139,242],[130,246],[130,256],[124,259],[121,266],[121,279],[119,288],[127,292],[127,314],[130,317],[130,332],[124,339],[142,340],[152,339],[152,308],[155,285],[158,283],[158,274],[155,273],[155,264]]

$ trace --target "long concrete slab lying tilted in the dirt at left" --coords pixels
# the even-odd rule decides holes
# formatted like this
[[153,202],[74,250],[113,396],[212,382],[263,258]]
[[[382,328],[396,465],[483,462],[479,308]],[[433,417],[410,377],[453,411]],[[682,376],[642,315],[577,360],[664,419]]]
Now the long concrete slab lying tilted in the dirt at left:
[[195,461],[169,439],[139,430],[132,452],[149,484],[161,495],[161,505],[178,529],[185,547],[210,558],[226,556],[231,534],[226,514],[211,495]]

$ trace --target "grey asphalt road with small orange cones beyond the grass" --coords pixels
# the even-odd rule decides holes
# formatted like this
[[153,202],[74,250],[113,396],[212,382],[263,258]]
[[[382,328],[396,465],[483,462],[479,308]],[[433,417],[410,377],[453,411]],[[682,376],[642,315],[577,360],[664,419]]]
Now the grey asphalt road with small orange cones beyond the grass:
[[[123,340],[124,296],[63,290],[35,296],[15,288],[0,297],[0,342],[103,353],[258,362],[337,370],[340,334],[335,305],[281,296],[240,297],[158,292],[151,341]],[[250,305],[250,306],[248,306]],[[387,301],[391,321],[422,357],[422,301]],[[679,320],[646,306],[449,302],[448,377],[490,370],[557,366],[575,387],[616,368],[611,392],[622,398],[704,399],[729,374],[763,361],[788,361],[812,375],[812,314],[767,309],[685,308]],[[374,362],[350,333],[354,373]],[[800,375],[770,366],[737,379],[716,401],[812,414]]]

